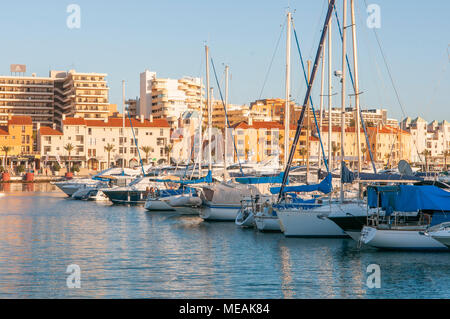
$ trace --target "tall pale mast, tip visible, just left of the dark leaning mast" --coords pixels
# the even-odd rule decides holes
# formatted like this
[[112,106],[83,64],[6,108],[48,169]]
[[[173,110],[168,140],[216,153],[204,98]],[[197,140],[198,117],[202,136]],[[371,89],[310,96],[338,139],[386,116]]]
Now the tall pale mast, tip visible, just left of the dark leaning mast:
[[288,163],[289,153],[289,122],[291,95],[291,12],[287,13],[286,21],[286,101],[284,107],[284,166]]

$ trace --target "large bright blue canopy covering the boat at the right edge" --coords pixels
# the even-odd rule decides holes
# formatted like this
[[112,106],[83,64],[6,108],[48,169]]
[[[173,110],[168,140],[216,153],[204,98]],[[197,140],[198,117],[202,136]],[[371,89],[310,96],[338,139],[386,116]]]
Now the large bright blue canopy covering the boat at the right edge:
[[369,186],[367,198],[370,208],[383,208],[387,214],[419,210],[450,213],[450,192],[432,185]]

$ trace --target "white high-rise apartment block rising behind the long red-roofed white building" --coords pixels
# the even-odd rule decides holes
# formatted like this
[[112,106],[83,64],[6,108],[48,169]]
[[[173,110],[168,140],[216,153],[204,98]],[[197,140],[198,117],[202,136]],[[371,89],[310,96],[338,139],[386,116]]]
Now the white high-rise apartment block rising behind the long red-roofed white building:
[[202,87],[200,78],[157,78],[156,72],[140,74],[140,103],[137,113],[155,119],[165,118],[176,126],[187,110],[200,110]]

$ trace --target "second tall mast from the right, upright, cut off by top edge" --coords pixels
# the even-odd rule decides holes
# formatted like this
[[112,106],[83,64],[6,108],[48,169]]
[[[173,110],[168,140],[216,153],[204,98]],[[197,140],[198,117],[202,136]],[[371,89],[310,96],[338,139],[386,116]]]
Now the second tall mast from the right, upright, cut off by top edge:
[[347,54],[347,0],[343,0],[342,9],[342,77],[341,77],[341,202],[344,201],[344,183],[342,183],[342,163],[344,162],[344,142],[345,142],[345,70],[346,70],[346,54]]

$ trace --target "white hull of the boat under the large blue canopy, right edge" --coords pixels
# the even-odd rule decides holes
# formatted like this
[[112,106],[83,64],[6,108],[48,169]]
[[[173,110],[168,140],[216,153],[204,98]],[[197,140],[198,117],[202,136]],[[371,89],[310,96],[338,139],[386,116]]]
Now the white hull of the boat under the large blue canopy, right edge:
[[419,230],[385,230],[365,226],[361,232],[361,241],[380,249],[448,250],[444,244]]

